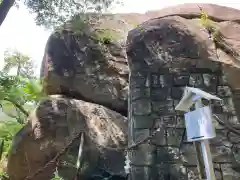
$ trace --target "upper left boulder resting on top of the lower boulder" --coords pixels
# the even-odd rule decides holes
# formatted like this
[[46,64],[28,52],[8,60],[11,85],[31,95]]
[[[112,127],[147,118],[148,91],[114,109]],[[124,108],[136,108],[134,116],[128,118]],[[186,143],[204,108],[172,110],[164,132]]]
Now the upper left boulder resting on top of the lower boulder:
[[[144,18],[90,14],[68,22],[48,39],[42,62],[47,94],[95,102],[127,114],[128,31]],[[87,20],[86,20],[87,18]]]

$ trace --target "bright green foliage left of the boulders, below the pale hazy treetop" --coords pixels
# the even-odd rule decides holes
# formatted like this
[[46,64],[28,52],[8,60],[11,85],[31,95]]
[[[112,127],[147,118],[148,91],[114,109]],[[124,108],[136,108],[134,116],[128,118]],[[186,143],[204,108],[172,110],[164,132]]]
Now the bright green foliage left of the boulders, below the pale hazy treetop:
[[[44,98],[46,96],[42,93],[37,80],[10,76],[0,72],[0,104],[2,106],[2,112],[0,112],[0,157],[8,152],[13,136],[25,123],[24,119],[28,116],[28,110],[25,107],[31,103],[36,104]],[[7,112],[10,105],[15,108],[15,114],[12,111],[11,114]],[[2,116],[3,113],[6,116]],[[7,119],[7,116],[11,118]]]

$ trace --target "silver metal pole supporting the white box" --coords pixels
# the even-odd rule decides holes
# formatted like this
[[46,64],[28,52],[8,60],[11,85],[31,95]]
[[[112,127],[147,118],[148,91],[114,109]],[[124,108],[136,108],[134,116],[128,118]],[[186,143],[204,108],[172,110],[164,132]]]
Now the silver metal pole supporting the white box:
[[[202,101],[201,98],[197,99],[196,103],[195,103],[195,109],[198,109],[202,107]],[[196,143],[198,144],[198,143]],[[196,145],[195,144],[195,145]],[[201,152],[201,154],[197,154],[199,157],[199,159],[203,159],[204,165],[201,163],[202,161],[199,162],[199,170],[200,170],[200,174],[201,174],[201,178],[207,178],[207,180],[215,180],[215,174],[214,174],[214,168],[213,168],[213,163],[212,163],[212,156],[211,156],[211,151],[210,151],[210,146],[209,146],[209,142],[208,140],[203,140],[200,141],[201,144],[201,149],[199,148],[199,146],[197,145],[197,152]],[[202,167],[203,166],[203,167]],[[203,169],[205,169],[205,174],[203,171]],[[203,176],[204,174],[204,176]]]

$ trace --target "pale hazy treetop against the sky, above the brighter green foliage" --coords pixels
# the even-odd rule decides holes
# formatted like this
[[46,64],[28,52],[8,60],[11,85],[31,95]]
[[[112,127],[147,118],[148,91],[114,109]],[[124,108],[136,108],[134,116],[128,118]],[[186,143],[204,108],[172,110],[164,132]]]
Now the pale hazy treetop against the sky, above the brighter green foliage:
[[31,78],[34,75],[34,62],[29,56],[19,51],[5,51],[3,71],[9,73],[12,69],[16,69],[17,76]]

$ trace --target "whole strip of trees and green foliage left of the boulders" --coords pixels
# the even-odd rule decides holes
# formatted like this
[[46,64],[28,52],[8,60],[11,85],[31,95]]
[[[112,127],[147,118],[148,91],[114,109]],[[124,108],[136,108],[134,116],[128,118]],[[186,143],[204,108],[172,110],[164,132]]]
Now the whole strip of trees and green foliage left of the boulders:
[[[15,134],[24,126],[28,111],[47,96],[41,82],[33,76],[33,63],[18,51],[5,53],[3,71],[0,71],[0,179],[4,174],[6,155]],[[16,75],[10,75],[16,68]]]

